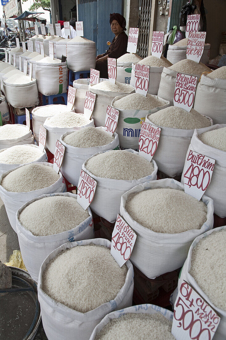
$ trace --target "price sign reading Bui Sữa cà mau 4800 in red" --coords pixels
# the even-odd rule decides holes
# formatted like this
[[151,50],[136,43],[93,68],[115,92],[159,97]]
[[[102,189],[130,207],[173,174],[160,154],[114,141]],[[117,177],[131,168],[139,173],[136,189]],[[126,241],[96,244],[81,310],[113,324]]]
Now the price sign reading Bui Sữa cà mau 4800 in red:
[[129,260],[135,241],[136,234],[133,229],[118,214],[111,238],[111,255],[119,267]]

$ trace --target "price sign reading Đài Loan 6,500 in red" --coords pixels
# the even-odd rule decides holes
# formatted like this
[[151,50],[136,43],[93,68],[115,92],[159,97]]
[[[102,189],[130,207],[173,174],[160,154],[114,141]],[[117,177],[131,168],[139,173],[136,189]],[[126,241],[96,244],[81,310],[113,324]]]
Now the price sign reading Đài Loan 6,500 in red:
[[176,85],[173,96],[173,105],[190,112],[194,102],[198,77],[177,73]]

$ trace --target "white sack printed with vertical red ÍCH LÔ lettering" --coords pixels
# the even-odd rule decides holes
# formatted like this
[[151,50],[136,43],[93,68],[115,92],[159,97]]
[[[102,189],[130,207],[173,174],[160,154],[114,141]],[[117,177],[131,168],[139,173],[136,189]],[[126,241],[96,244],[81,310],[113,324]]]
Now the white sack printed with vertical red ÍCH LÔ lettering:
[[38,91],[45,96],[67,92],[67,73],[66,63],[36,62],[35,78]]

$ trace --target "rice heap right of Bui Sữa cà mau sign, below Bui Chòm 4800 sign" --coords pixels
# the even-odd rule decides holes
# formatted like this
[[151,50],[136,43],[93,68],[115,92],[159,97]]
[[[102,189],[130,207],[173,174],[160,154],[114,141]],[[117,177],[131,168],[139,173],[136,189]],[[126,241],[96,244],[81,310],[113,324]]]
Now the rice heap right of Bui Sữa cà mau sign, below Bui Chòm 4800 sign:
[[176,234],[200,229],[207,207],[183,190],[148,189],[129,195],[125,209],[145,228],[156,233]]

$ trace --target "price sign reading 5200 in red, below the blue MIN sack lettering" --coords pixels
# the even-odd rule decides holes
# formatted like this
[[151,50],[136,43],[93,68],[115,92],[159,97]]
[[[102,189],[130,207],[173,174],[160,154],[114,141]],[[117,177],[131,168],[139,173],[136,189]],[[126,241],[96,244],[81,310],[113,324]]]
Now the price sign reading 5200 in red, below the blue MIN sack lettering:
[[161,128],[155,125],[142,122],[139,136],[139,154],[151,162],[158,147]]

